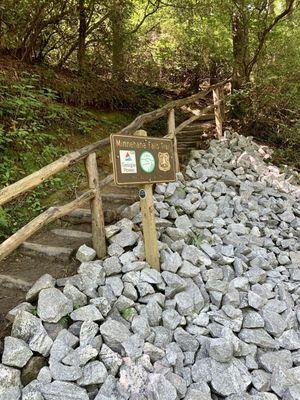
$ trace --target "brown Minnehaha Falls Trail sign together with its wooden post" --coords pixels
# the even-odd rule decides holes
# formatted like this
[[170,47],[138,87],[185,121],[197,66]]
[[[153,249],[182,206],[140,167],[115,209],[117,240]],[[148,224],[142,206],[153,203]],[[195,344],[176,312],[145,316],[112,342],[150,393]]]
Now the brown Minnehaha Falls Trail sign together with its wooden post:
[[153,184],[176,180],[174,143],[171,139],[149,138],[140,130],[135,136],[111,135],[111,148],[116,185],[136,184],[141,188],[146,261],[159,271]]

